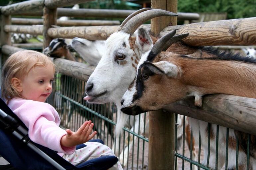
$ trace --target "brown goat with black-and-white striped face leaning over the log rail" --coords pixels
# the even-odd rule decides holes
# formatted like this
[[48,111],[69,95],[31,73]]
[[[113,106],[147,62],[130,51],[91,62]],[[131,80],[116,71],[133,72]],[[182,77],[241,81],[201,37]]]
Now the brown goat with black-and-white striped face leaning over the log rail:
[[[166,38],[167,36],[167,38]],[[157,110],[170,103],[194,96],[194,104],[202,106],[205,94],[230,94],[256,98],[256,60],[239,54],[219,52],[212,48],[202,48],[192,55],[180,55],[161,52],[163,44],[169,39],[168,34],[155,43],[151,51],[142,56],[137,67],[137,76],[122,98],[121,110],[136,115],[145,111]],[[190,50],[189,48],[187,50]],[[203,58],[207,51],[210,58]],[[211,146],[216,146],[216,125],[193,118],[189,119],[194,139],[204,148],[203,164],[207,161],[208,133]],[[199,132],[199,133],[198,133]],[[207,133],[208,132],[208,133]],[[239,140],[238,169],[246,169],[247,134],[219,126],[218,167],[222,168],[226,154],[228,138],[228,169],[236,167],[236,137]],[[249,169],[256,168],[256,137],[251,135]],[[210,147],[209,167],[215,166],[216,148]]]

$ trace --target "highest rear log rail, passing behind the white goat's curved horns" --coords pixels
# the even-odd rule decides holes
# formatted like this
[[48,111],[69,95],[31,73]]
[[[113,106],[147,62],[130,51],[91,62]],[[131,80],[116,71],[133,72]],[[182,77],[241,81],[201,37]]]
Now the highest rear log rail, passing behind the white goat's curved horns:
[[[101,17],[101,18],[126,18],[135,10],[113,10],[113,9],[71,9],[71,8],[57,8],[58,17]],[[42,16],[42,11],[30,11],[23,13],[27,16]],[[178,12],[178,20],[198,20],[197,13],[183,13]]]

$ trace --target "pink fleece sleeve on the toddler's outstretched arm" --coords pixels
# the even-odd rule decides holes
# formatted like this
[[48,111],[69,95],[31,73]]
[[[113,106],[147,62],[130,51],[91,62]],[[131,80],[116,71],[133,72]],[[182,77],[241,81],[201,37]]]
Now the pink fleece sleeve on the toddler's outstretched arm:
[[57,120],[54,116],[53,108],[51,108],[52,106],[45,104],[24,106],[20,109],[19,117],[29,128],[30,139],[37,144],[58,152],[73,153],[75,146],[70,148],[61,146],[61,138],[66,134],[66,131],[56,124]]

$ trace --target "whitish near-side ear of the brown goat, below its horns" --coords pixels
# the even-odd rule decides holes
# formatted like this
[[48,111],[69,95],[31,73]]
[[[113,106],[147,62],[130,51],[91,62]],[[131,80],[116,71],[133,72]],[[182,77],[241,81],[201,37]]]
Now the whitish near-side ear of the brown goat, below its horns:
[[145,61],[144,64],[156,74],[166,74],[169,77],[177,78],[182,74],[182,70],[179,66],[170,63],[168,61],[161,61],[157,63],[151,63]]

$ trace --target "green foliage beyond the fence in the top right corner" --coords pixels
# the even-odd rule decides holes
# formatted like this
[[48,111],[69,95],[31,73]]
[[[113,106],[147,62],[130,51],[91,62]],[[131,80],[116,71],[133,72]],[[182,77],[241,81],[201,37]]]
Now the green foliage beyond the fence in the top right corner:
[[227,12],[227,19],[255,17],[256,0],[178,0],[179,12]]

